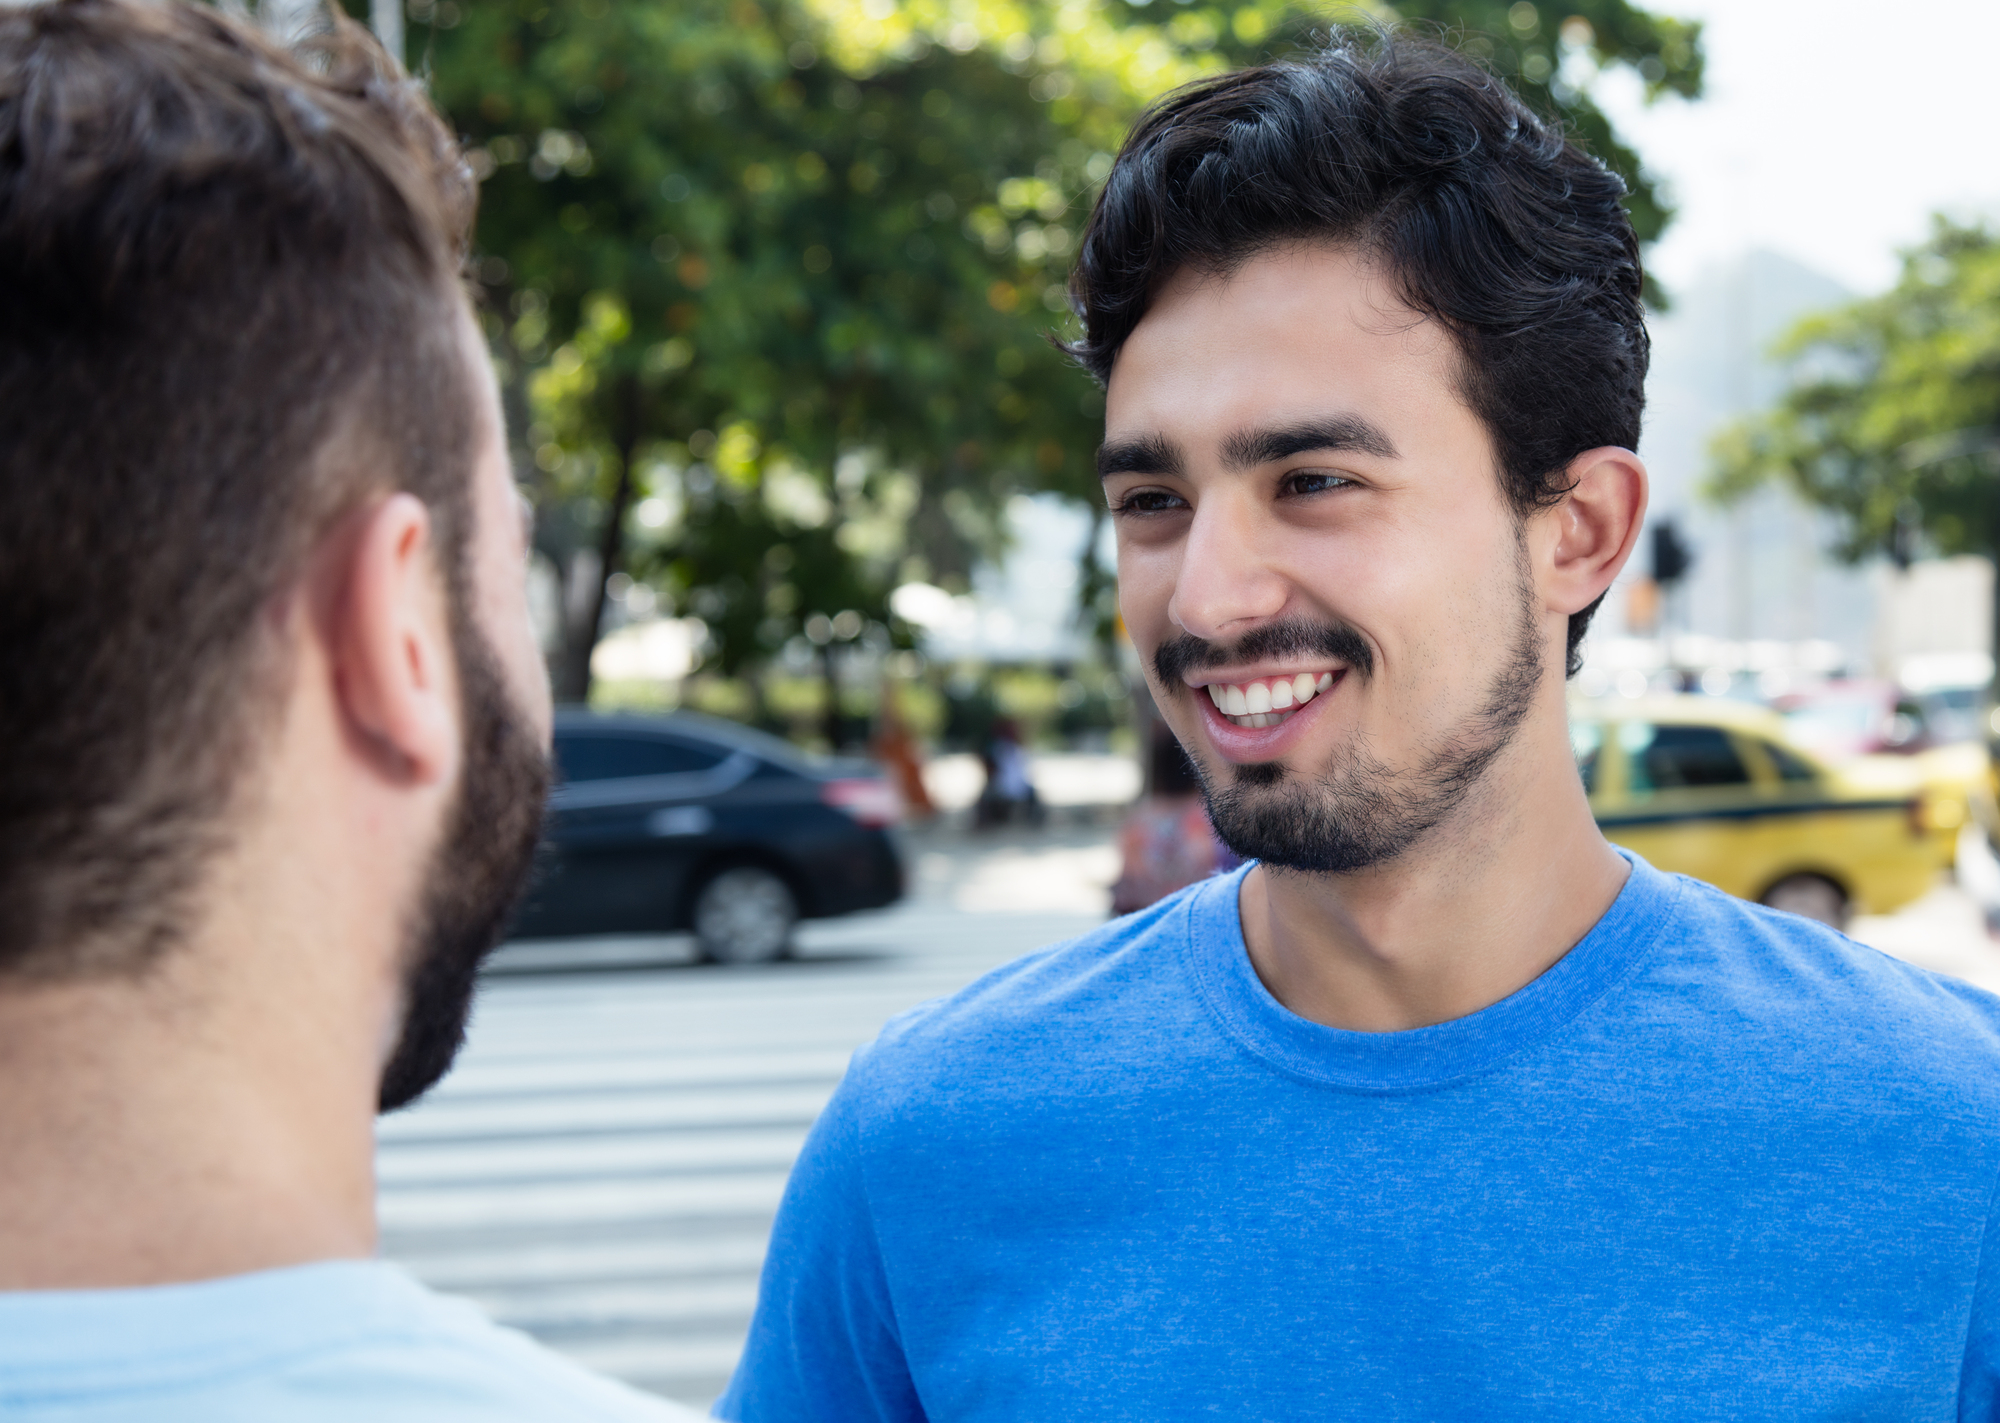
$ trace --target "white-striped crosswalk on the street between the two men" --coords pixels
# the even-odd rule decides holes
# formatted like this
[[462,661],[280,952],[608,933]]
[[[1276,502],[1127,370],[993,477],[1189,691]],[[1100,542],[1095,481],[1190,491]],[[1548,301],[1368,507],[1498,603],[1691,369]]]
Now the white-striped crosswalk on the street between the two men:
[[[792,963],[696,967],[674,939],[506,949],[460,1065],[380,1125],[384,1253],[590,1367],[710,1403],[854,1047],[1102,921],[1104,835],[1066,839],[926,853],[910,903],[808,925]],[[584,951],[610,963],[576,969]]]

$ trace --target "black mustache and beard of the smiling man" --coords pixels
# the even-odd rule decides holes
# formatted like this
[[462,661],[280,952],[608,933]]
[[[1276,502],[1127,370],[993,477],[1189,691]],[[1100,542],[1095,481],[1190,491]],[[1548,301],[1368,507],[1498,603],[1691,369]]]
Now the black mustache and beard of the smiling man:
[[[1356,648],[1360,656],[1354,656]],[[1154,670],[1162,688],[1186,696],[1184,670],[1308,652],[1334,656],[1350,678],[1374,678],[1374,654],[1358,632],[1346,624],[1304,622],[1258,628],[1234,648],[1174,638],[1154,654]],[[1348,873],[1396,859],[1466,799],[1514,739],[1546,676],[1544,660],[1524,582],[1514,642],[1478,710],[1430,745],[1416,765],[1388,765],[1360,739],[1350,739],[1326,769],[1312,775],[1284,761],[1218,769],[1190,755],[1216,835],[1244,859],[1278,869]],[[1168,678],[1168,672],[1174,676]]]

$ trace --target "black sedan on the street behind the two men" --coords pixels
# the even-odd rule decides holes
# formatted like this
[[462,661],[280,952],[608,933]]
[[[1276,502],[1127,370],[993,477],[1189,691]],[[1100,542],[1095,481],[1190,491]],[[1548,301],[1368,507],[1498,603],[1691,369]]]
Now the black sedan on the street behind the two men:
[[556,763],[514,937],[694,929],[702,957],[760,963],[798,919],[902,897],[902,805],[866,761],[688,712],[558,712]]

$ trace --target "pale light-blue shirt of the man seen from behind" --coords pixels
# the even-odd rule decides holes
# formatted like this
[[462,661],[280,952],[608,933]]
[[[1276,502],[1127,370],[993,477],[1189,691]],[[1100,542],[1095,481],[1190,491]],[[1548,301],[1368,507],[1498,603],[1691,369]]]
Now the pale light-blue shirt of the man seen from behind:
[[8,1423],[696,1423],[434,1295],[326,1261],[0,1293]]

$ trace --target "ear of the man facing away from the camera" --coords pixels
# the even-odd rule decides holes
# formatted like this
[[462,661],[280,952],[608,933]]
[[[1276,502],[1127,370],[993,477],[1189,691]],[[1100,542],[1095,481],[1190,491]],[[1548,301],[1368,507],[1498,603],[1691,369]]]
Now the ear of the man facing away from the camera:
[[326,632],[344,729],[384,775],[444,781],[458,767],[458,704],[430,510],[390,494],[332,544]]

